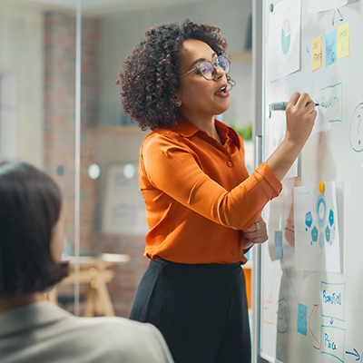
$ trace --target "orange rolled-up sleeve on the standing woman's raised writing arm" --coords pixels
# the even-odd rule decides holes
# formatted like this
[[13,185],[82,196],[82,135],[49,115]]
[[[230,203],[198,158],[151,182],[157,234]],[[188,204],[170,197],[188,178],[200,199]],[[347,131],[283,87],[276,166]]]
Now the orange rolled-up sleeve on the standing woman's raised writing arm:
[[156,135],[143,146],[142,162],[154,188],[234,230],[250,228],[266,203],[281,190],[274,172],[262,163],[250,177],[227,191],[203,172],[195,152],[168,134]]

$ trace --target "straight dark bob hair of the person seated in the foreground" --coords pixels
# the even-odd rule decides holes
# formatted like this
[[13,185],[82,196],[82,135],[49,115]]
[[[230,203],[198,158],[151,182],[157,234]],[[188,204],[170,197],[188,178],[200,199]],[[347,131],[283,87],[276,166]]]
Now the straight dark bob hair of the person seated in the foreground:
[[44,172],[25,162],[0,163],[0,298],[44,291],[67,275],[51,255],[61,192]]

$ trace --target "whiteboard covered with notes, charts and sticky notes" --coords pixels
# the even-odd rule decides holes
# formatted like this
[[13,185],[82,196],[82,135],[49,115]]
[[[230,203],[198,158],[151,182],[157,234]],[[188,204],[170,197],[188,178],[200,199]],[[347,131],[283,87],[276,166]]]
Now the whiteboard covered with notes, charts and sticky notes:
[[[271,55],[270,42],[282,44],[283,52],[289,52],[289,32],[285,29],[281,33],[289,23],[286,16],[280,17],[280,34],[272,34],[279,34],[280,38],[270,39],[271,4],[279,9],[280,3],[263,1],[262,5],[263,159],[280,142],[277,125],[285,122],[283,116],[281,119],[283,112],[270,113],[270,103],[289,100],[292,93],[299,91],[309,93],[320,106],[316,126],[292,177],[282,182],[280,196],[268,204],[263,214],[269,240],[261,247],[259,357],[283,363],[362,362],[363,5],[360,1],[348,2],[329,11],[309,13],[310,5],[331,5],[334,1],[302,0],[299,69],[271,80],[270,64],[277,62],[271,59],[274,54]],[[290,21],[289,25],[293,28],[295,23]],[[347,24],[348,44],[338,44],[347,41],[343,39],[347,32],[339,34],[347,29]],[[339,28],[341,25],[345,27]],[[332,49],[334,31],[335,45],[341,49]],[[321,66],[312,71],[320,61],[320,36]],[[348,50],[344,49],[347,45]],[[347,51],[348,56],[338,58]],[[320,182],[327,188],[325,193],[319,191]],[[334,191],[326,197],[325,205],[321,195],[330,192],[332,185]],[[304,201],[297,199],[299,193],[306,197]],[[329,201],[332,199],[335,207]],[[325,207],[327,217],[324,211],[319,215]],[[324,220],[320,227],[319,218]],[[305,230],[297,231],[301,224]],[[334,230],[335,226],[338,230]],[[338,231],[334,237],[338,249],[332,253],[339,257],[338,264],[330,269],[328,262],[332,257],[328,250],[333,244],[333,230]],[[304,236],[308,236],[309,243],[304,242]],[[298,241],[305,244],[297,255]],[[305,254],[319,267],[309,265]]]

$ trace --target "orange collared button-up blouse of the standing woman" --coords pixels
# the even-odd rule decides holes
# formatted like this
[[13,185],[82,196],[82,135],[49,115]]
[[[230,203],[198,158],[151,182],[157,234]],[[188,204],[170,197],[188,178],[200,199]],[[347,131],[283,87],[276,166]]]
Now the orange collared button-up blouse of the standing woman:
[[223,144],[179,118],[142,142],[139,181],[150,231],[144,256],[179,263],[247,259],[243,232],[281,183],[266,163],[250,176],[240,135],[215,120]]

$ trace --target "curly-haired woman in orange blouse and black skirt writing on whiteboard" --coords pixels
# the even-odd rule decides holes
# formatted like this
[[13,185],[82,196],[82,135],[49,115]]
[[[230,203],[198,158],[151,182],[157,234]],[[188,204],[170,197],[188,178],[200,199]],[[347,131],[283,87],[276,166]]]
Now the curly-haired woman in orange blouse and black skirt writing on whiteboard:
[[145,35],[116,81],[125,113],[152,130],[139,165],[151,261],[130,319],[158,327],[177,363],[250,362],[240,265],[267,240],[260,212],[308,140],[315,105],[291,96],[285,139],[249,175],[241,137],[214,118],[233,83],[220,29],[185,21]]

